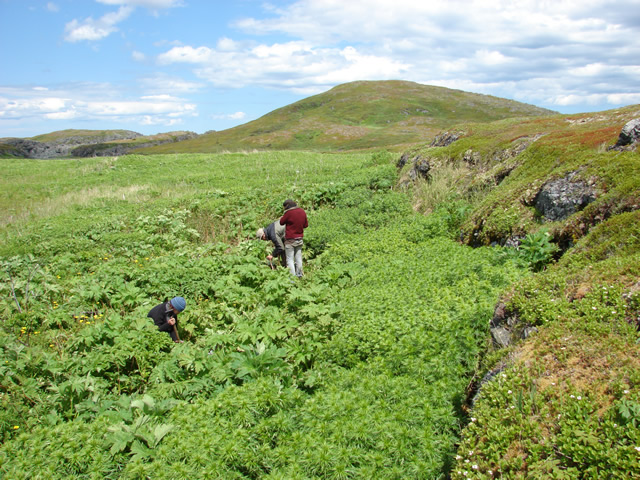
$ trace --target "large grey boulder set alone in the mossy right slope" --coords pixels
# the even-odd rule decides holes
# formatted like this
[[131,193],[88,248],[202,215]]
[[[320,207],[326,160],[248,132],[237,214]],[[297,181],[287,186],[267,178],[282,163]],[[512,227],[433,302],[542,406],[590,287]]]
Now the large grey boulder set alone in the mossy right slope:
[[534,206],[545,221],[564,220],[596,199],[594,187],[583,180],[576,180],[577,174],[572,172],[542,186],[534,199]]

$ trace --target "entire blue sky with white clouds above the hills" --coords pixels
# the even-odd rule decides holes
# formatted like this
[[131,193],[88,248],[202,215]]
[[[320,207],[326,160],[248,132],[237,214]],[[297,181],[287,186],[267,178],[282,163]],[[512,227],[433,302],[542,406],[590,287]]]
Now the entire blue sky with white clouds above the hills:
[[0,0],[0,137],[225,130],[358,80],[640,104],[640,0]]

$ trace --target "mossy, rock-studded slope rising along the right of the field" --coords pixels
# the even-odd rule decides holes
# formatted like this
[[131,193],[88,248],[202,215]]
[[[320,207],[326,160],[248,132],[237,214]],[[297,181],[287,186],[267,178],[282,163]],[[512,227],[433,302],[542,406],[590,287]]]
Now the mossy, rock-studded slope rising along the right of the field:
[[461,241],[537,272],[496,306],[452,478],[640,478],[638,119],[459,125],[399,162],[416,209],[467,205]]

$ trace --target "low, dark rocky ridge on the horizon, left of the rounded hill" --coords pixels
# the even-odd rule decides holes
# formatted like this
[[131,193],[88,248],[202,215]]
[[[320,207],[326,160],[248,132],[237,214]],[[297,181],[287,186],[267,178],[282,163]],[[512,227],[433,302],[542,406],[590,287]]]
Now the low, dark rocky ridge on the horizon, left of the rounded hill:
[[0,138],[0,156],[18,158],[124,155],[144,147],[197,137],[194,132],[144,136],[131,130],[66,130],[34,138]]

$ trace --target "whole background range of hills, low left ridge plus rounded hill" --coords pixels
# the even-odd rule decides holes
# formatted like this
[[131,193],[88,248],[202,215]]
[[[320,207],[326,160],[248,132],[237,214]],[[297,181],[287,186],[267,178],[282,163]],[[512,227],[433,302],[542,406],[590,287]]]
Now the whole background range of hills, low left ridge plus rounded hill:
[[198,135],[145,136],[129,130],[62,130],[0,139],[0,156],[114,156],[127,153],[206,153],[248,150],[402,151],[464,122],[539,117],[555,112],[493,97],[406,81],[339,85],[257,120]]

